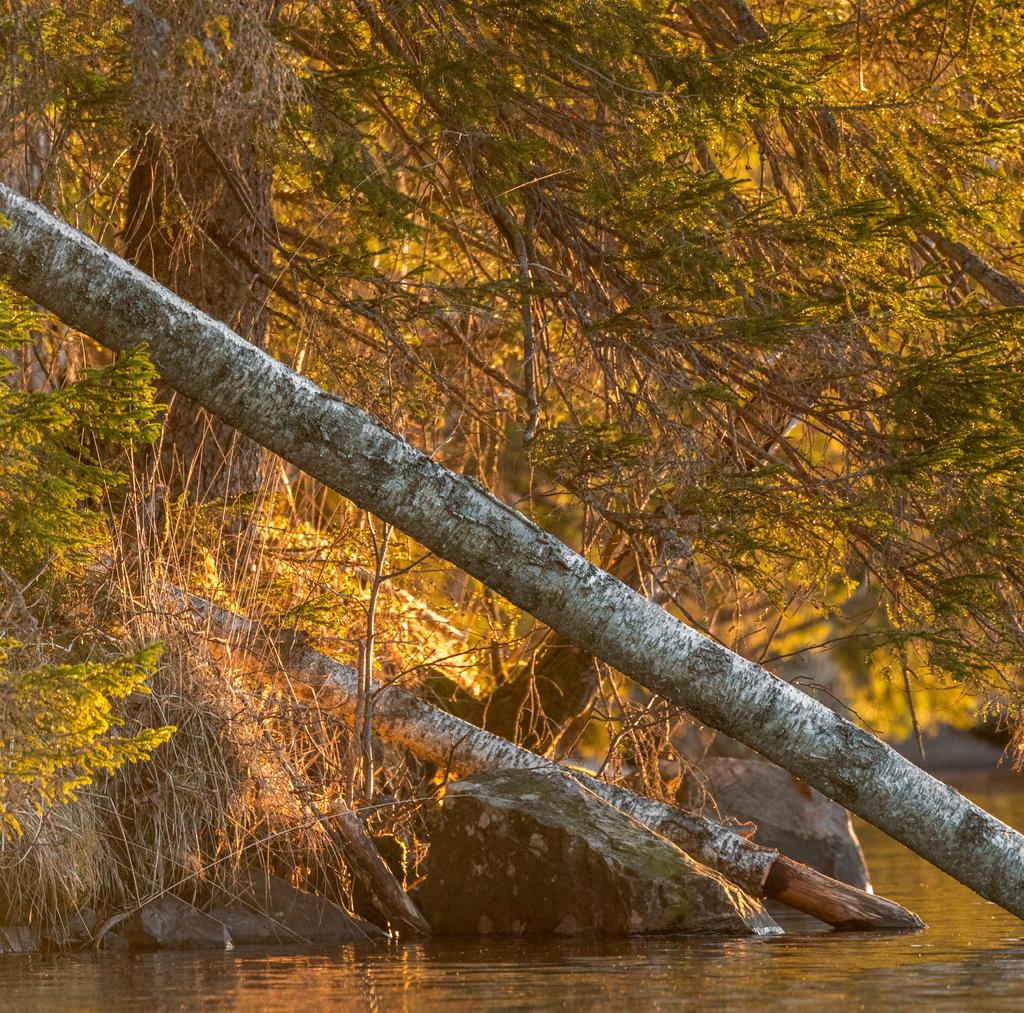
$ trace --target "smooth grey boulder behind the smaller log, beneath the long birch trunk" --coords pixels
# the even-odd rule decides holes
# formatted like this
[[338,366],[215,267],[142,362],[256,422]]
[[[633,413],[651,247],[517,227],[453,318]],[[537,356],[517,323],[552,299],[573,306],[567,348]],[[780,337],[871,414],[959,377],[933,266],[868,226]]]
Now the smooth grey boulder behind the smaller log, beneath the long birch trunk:
[[757,826],[753,840],[833,879],[866,889],[860,842],[841,805],[767,760],[709,757],[691,778],[689,804]]

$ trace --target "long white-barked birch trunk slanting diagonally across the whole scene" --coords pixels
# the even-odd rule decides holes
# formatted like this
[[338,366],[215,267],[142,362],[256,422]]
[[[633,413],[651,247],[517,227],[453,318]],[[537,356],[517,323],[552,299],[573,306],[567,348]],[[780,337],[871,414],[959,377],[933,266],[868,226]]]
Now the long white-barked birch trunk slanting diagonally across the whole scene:
[[2,185],[0,214],[15,290],[114,351],[147,342],[185,396],[1024,917],[1024,837],[1006,824]]

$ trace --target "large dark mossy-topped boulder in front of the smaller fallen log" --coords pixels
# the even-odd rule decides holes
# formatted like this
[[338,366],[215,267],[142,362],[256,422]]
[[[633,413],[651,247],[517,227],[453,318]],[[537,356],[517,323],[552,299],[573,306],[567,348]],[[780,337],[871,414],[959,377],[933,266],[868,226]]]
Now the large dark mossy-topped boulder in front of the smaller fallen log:
[[447,787],[413,898],[445,935],[777,931],[665,838],[568,777],[527,770]]

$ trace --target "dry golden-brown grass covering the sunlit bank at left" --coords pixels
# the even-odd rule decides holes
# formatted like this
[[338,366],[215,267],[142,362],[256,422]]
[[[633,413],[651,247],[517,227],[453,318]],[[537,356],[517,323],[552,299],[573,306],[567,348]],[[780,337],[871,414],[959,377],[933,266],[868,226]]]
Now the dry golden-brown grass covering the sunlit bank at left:
[[[58,639],[77,626],[79,649],[94,659],[162,642],[152,692],[131,698],[123,715],[128,731],[176,730],[151,760],[98,777],[75,802],[19,813],[24,836],[0,845],[0,919],[59,935],[86,905],[104,919],[166,891],[201,904],[230,894],[239,869],[253,864],[346,901],[350,877],[322,816],[348,780],[347,726],[298,699],[272,661],[211,642],[160,588],[270,617],[301,614],[330,590],[319,628],[351,660],[365,622],[354,511],[321,529],[272,481],[255,503],[171,504],[156,526],[141,479],[122,502],[101,562],[68,597]],[[273,509],[282,502],[284,516]],[[38,624],[23,639],[34,639],[37,664],[67,646]],[[401,755],[381,749],[378,761],[385,797],[423,794]],[[400,806],[377,811],[381,830],[408,818]]]

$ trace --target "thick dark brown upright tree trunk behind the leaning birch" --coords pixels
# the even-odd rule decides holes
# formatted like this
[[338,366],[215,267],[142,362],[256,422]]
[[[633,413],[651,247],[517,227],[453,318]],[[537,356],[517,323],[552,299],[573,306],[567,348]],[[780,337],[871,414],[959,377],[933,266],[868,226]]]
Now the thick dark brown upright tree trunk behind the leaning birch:
[[[135,102],[140,140],[128,181],[125,256],[262,348],[271,174],[259,158],[256,125],[215,132],[162,122],[165,107],[182,97],[176,65],[186,55],[174,51],[169,26],[146,4],[133,9],[132,31],[136,90],[156,94]],[[156,122],[147,120],[150,110]],[[205,502],[255,490],[262,460],[257,442],[180,393],[166,390],[161,397],[169,405],[159,477],[171,496],[187,493]]]

